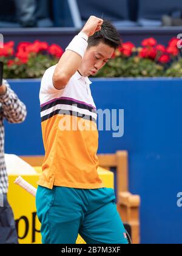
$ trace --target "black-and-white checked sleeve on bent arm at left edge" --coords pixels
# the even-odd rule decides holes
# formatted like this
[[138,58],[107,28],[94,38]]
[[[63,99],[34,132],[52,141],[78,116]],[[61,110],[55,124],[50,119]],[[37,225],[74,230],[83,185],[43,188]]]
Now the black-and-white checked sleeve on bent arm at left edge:
[[7,119],[9,123],[22,123],[27,116],[26,107],[10,88],[6,80],[3,80],[3,84],[7,87],[7,91],[4,95],[0,96],[2,116]]

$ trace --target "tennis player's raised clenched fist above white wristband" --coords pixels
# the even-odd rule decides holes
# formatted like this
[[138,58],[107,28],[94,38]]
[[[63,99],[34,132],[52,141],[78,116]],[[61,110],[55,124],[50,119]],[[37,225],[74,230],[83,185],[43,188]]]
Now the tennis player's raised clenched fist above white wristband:
[[82,32],[84,32],[88,37],[92,37],[95,32],[101,30],[101,26],[103,24],[103,20],[97,18],[96,16],[90,16],[89,20],[83,27]]

